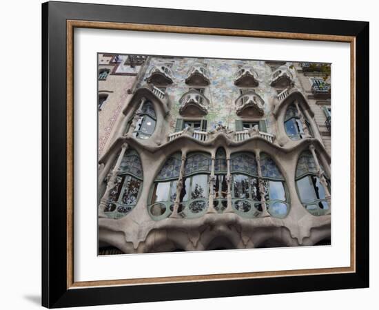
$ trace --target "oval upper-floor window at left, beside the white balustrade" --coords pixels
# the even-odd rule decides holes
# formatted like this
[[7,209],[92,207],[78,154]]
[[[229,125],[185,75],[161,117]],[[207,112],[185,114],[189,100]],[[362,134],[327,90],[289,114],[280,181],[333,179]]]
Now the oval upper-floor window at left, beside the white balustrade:
[[146,101],[137,113],[139,118],[136,122],[133,135],[140,139],[150,138],[150,136],[154,133],[156,124],[156,114],[152,103],[150,101]]

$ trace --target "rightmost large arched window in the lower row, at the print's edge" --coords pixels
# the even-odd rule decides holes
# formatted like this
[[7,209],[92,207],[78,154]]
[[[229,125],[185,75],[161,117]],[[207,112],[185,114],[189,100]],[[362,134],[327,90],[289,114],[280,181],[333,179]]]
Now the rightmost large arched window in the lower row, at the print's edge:
[[[325,178],[327,183],[329,183],[328,178],[326,176]],[[300,154],[298,159],[298,165],[296,167],[296,189],[298,190],[301,203],[309,213],[314,216],[321,216],[329,211],[325,188],[320,183],[314,156],[309,151]]]

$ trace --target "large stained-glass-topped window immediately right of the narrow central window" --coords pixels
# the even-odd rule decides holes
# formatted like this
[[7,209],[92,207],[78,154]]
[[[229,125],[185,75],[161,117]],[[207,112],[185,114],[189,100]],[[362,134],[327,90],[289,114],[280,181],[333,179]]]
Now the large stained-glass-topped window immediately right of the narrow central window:
[[262,211],[258,183],[258,167],[253,153],[236,153],[230,156],[230,172],[233,176],[232,205],[245,217],[258,216]]

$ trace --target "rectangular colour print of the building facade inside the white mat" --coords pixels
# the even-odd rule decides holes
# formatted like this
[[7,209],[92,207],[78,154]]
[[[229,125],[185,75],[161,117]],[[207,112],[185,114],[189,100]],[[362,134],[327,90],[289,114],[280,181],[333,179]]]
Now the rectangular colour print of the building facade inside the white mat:
[[99,254],[330,244],[330,65],[139,61],[99,111]]

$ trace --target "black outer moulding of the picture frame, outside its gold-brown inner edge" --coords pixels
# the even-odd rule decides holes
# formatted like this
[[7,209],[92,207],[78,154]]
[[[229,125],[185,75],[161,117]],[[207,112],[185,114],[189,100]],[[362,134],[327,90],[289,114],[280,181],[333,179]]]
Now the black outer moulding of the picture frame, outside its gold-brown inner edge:
[[[356,37],[356,272],[67,289],[66,20]],[[42,4],[42,304],[73,307],[369,287],[369,23],[88,3]],[[345,103],[349,104],[349,103]]]

